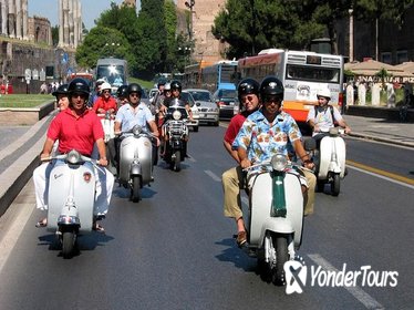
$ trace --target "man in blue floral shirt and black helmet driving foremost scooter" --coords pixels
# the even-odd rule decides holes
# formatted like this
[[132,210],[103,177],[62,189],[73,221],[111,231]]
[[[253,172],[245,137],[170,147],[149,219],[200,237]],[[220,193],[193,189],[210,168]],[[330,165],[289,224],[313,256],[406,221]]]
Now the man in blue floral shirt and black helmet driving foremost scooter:
[[260,84],[261,108],[249,115],[242,124],[232,146],[238,147],[241,168],[250,167],[253,163],[270,159],[276,153],[288,156],[290,142],[298,157],[307,169],[301,169],[306,177],[302,179],[304,197],[304,215],[313,213],[314,187],[317,178],[308,169],[314,167],[302,145],[302,135],[290,114],[281,110],[283,101],[283,84],[276,76],[267,76]]

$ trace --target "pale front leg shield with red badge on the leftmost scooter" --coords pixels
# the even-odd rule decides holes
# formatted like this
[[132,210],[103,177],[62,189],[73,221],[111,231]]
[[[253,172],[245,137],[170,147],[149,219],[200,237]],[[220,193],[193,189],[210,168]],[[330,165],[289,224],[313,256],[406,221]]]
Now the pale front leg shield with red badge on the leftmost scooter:
[[60,216],[75,216],[80,231],[91,231],[95,199],[95,175],[90,165],[56,164],[49,178],[48,230],[58,230]]

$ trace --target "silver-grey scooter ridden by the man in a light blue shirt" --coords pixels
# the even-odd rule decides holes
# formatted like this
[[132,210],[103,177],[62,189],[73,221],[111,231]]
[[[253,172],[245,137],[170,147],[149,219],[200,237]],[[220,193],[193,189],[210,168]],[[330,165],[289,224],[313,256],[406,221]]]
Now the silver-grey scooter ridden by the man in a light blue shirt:
[[121,135],[120,145],[120,176],[118,180],[125,188],[131,189],[131,200],[141,199],[141,189],[149,185],[153,178],[152,140],[154,135],[146,128],[135,125],[131,131]]

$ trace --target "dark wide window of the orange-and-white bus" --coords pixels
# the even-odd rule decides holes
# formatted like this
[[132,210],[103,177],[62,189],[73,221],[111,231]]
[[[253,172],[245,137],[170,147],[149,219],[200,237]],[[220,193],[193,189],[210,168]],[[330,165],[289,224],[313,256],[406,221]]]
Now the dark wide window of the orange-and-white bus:
[[315,68],[309,65],[287,64],[286,80],[339,83],[340,71],[339,68]]

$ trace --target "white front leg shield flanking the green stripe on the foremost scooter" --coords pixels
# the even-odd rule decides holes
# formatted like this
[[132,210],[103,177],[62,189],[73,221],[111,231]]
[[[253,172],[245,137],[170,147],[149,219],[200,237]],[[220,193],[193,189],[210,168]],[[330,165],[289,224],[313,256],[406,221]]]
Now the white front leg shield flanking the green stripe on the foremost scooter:
[[270,173],[260,173],[250,179],[250,229],[251,245],[260,245],[266,230],[280,234],[292,234],[294,245],[301,242],[303,223],[303,195],[298,175],[287,173],[283,178],[286,217],[272,217],[272,178]]

